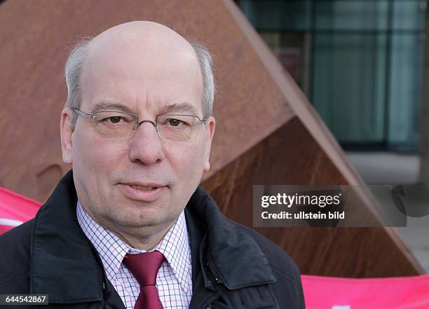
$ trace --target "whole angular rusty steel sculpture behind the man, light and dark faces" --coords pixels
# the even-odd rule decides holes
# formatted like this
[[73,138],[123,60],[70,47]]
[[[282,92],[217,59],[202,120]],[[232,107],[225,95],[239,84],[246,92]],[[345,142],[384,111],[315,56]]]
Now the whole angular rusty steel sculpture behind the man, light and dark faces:
[[[0,186],[43,202],[71,168],[61,159],[63,66],[79,36],[152,20],[205,43],[218,94],[212,170],[203,185],[222,211],[252,225],[253,184],[362,184],[290,76],[232,1],[42,0],[0,5]],[[368,196],[356,193],[372,216]],[[303,273],[415,275],[420,266],[387,228],[259,229]]]

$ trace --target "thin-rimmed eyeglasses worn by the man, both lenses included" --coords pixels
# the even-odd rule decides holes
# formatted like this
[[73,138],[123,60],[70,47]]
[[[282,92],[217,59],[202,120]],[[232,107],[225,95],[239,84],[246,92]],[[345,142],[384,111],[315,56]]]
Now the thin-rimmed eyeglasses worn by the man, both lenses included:
[[160,138],[169,141],[187,142],[195,139],[200,130],[200,124],[206,123],[206,118],[191,115],[160,115],[155,122],[144,120],[139,122],[136,114],[125,111],[97,111],[93,114],[74,109],[83,118],[93,118],[95,131],[102,137],[111,139],[126,139],[134,135],[143,123],[154,125]]

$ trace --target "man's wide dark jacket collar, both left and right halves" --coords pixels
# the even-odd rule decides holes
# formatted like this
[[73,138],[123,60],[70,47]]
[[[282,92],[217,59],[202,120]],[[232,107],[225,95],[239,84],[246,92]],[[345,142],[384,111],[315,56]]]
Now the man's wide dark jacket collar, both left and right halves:
[[[79,226],[76,202],[69,171],[34,219],[30,288],[33,294],[49,294],[50,303],[100,301],[103,287],[110,287],[100,257]],[[203,263],[208,260],[214,275],[228,289],[275,282],[257,243],[226,219],[202,188],[193,193],[186,209],[186,221],[203,226],[202,238],[207,240],[208,248],[206,256],[197,259],[194,253],[201,247],[190,235],[193,266],[200,260],[204,270]]]

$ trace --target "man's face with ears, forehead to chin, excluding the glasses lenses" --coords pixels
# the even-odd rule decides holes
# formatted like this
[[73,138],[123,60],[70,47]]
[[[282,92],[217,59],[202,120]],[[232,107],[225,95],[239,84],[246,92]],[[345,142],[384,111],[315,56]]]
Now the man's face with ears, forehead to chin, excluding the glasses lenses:
[[[125,41],[111,49],[103,41],[95,43],[81,76],[81,111],[92,114],[100,104],[117,104],[139,121],[155,121],[175,104],[188,108],[168,114],[203,118],[199,64],[184,42],[136,47]],[[71,116],[67,109],[62,116],[63,158],[73,164],[77,195],[91,217],[118,234],[155,233],[171,226],[203,170],[210,168],[214,120],[201,123],[195,139],[174,142],[161,139],[151,123],[140,125],[128,139],[102,137],[92,119],[80,116],[67,130]],[[68,136],[69,149],[64,147]]]

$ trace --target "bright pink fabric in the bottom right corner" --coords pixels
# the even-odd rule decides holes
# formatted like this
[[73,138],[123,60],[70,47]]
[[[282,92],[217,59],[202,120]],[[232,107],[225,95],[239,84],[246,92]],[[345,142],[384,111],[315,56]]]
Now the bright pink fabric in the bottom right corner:
[[306,309],[428,309],[429,275],[351,279],[301,275]]

